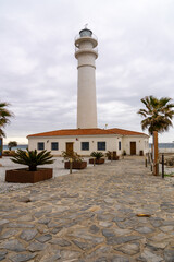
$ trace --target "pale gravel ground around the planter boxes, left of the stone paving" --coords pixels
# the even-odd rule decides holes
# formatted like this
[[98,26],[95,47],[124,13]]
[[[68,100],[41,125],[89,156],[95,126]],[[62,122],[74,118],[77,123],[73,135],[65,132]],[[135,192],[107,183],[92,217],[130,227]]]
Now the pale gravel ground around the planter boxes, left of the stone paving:
[[[88,160],[88,158],[85,158],[85,160]],[[33,183],[8,183],[4,181],[5,179],[5,170],[10,169],[16,169],[16,168],[24,168],[23,165],[17,165],[13,163],[10,157],[5,156],[0,159],[0,164],[2,165],[0,167],[0,193],[4,193],[11,190],[17,190],[20,188],[26,188],[33,186]],[[88,167],[90,168],[92,165],[88,164]],[[51,165],[45,165],[45,167],[53,168],[53,178],[64,176],[70,174],[69,169],[64,169],[64,163],[62,157],[54,157],[54,163]],[[73,170],[73,172],[76,172],[77,170]]]

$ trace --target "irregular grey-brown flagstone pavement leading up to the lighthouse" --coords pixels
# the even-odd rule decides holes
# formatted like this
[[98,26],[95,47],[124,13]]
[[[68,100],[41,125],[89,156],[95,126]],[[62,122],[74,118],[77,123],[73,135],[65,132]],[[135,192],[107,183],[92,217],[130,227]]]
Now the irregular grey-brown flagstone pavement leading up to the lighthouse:
[[0,261],[172,262],[174,186],[126,157],[0,194]]

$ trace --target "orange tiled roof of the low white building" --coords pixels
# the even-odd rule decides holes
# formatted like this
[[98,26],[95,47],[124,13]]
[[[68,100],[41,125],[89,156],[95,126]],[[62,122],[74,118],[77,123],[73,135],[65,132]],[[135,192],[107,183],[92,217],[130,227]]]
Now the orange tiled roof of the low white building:
[[135,131],[124,129],[64,129],[44,133],[29,134],[30,136],[57,136],[57,135],[97,135],[97,134],[121,134],[121,135],[146,135]]

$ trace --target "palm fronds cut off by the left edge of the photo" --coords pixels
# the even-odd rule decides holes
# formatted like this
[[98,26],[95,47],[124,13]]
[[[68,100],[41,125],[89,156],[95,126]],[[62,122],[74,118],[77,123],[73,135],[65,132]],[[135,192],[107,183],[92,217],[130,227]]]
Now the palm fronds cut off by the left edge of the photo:
[[5,133],[3,131],[3,128],[10,123],[10,118],[13,117],[13,112],[9,111],[7,107],[9,107],[10,104],[5,102],[0,103],[0,136],[5,138]]

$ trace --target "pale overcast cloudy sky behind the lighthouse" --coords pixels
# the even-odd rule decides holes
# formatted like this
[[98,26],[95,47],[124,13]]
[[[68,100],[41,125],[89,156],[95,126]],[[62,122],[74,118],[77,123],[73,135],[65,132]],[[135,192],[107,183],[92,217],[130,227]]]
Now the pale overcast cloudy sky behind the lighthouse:
[[[141,131],[140,98],[174,98],[173,0],[0,0],[0,100],[15,114],[5,143],[76,128],[74,37],[98,37],[98,127]],[[174,129],[160,142],[174,141]]]

